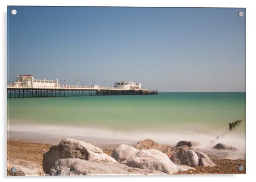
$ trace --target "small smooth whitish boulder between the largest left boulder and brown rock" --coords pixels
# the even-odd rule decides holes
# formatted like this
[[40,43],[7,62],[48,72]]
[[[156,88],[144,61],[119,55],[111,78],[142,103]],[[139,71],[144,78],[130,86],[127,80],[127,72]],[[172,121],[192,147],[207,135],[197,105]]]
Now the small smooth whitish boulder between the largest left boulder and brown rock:
[[111,157],[117,160],[117,162],[122,162],[134,156],[137,152],[139,150],[133,146],[122,144],[113,150]]

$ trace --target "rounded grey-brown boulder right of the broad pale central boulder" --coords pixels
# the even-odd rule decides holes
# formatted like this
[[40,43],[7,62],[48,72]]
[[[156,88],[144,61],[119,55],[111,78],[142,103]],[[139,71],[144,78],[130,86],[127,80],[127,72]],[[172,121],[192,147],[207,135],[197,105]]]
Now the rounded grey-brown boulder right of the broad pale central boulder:
[[194,151],[181,149],[177,154],[171,157],[171,161],[176,164],[188,165],[196,167],[198,165],[198,157]]

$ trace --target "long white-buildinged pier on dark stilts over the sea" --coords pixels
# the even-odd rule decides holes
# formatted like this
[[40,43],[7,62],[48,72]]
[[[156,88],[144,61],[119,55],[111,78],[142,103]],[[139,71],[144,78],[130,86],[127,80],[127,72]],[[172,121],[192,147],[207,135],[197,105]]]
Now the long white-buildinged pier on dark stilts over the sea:
[[157,90],[142,89],[141,83],[134,81],[116,82],[114,87],[62,85],[58,79],[40,80],[34,79],[31,75],[20,75],[17,76],[16,82],[7,84],[7,98],[157,94]]

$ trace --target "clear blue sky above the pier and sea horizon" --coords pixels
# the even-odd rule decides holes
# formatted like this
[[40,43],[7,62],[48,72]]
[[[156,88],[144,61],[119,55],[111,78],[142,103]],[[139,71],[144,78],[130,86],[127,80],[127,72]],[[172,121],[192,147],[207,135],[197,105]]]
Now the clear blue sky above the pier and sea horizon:
[[8,6],[7,46],[9,82],[245,92],[245,8]]

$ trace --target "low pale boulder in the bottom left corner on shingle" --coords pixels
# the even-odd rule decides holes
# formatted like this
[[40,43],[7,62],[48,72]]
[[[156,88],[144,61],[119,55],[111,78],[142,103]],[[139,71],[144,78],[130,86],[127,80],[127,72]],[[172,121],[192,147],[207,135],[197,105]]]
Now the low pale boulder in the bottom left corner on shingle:
[[45,175],[43,168],[40,164],[37,164],[35,162],[30,162],[27,160],[21,160],[21,159],[7,160],[7,171],[10,171],[11,168],[16,168],[17,174],[21,172],[21,174],[24,174],[24,175],[34,175],[34,176]]

